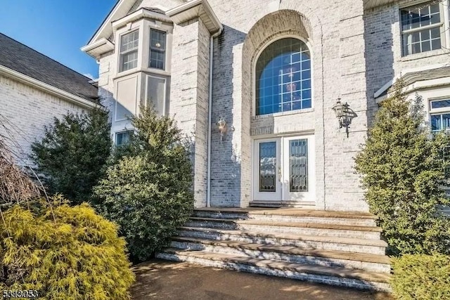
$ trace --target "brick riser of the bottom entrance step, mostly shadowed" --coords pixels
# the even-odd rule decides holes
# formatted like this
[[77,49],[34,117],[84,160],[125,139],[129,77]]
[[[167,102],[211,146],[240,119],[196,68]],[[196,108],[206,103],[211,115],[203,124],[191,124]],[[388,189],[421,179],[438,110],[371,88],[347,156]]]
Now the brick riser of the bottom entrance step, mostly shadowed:
[[338,278],[326,275],[315,275],[295,272],[292,270],[277,270],[265,267],[250,266],[243,263],[231,263],[224,261],[213,261],[210,259],[200,259],[193,256],[184,256],[179,254],[158,253],[158,259],[166,259],[169,261],[187,261],[189,263],[198,263],[203,266],[211,266],[216,268],[227,268],[231,270],[240,270],[248,273],[257,273],[264,275],[271,275],[277,277],[291,278],[296,280],[304,280],[309,282],[319,282],[326,285],[338,285],[342,287],[352,287],[357,289],[371,289],[383,292],[390,292],[390,286],[386,283],[380,282],[366,282],[364,280],[356,280],[349,278]]

